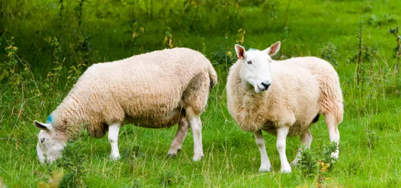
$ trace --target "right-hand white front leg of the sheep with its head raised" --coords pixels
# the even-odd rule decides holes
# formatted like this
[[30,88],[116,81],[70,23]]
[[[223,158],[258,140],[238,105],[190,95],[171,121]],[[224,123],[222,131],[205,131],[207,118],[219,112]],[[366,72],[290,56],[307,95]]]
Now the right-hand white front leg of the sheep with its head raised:
[[290,126],[285,125],[277,128],[277,150],[280,155],[281,173],[291,172],[290,163],[288,163],[287,156],[285,155],[285,142],[287,139]]

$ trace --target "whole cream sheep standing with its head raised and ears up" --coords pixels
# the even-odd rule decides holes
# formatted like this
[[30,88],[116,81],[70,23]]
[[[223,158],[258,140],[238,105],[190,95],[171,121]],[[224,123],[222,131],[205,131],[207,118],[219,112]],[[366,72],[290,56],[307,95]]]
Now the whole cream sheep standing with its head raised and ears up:
[[[285,155],[287,136],[300,136],[301,145],[310,147],[309,127],[323,114],[331,142],[337,143],[332,157],[338,157],[343,104],[339,79],[333,66],[319,58],[303,57],[273,61],[270,56],[280,42],[266,50],[249,50],[235,45],[239,60],[230,68],[227,105],[242,130],[254,133],[261,153],[260,171],[270,171],[261,130],[277,136],[281,172],[291,172]],[[301,147],[292,164],[301,157]]]

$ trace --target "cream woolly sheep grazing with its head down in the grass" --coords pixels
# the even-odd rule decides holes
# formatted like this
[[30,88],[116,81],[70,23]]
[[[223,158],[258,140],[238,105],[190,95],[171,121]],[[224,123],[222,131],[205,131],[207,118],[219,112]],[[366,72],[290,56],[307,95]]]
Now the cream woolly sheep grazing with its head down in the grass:
[[[203,156],[201,119],[209,90],[217,83],[211,63],[188,48],[165,49],[128,59],[97,63],[89,67],[47,118],[34,121],[40,128],[37,156],[41,162],[61,157],[68,140],[82,128],[101,138],[108,131],[111,159],[120,157],[118,133],[132,123],[149,128],[170,127],[178,131],[168,156],[175,156],[191,126],[193,160]],[[82,125],[82,126],[81,126]]]

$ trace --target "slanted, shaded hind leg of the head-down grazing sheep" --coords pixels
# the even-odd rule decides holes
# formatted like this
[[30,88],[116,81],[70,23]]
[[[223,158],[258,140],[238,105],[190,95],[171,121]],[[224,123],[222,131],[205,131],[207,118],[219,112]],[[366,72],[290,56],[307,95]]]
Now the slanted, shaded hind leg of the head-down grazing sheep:
[[189,129],[188,120],[184,117],[178,123],[178,130],[175,134],[174,139],[171,142],[170,150],[168,150],[168,157],[175,157],[177,153],[181,150],[182,143],[184,142],[185,137],[187,136]]

